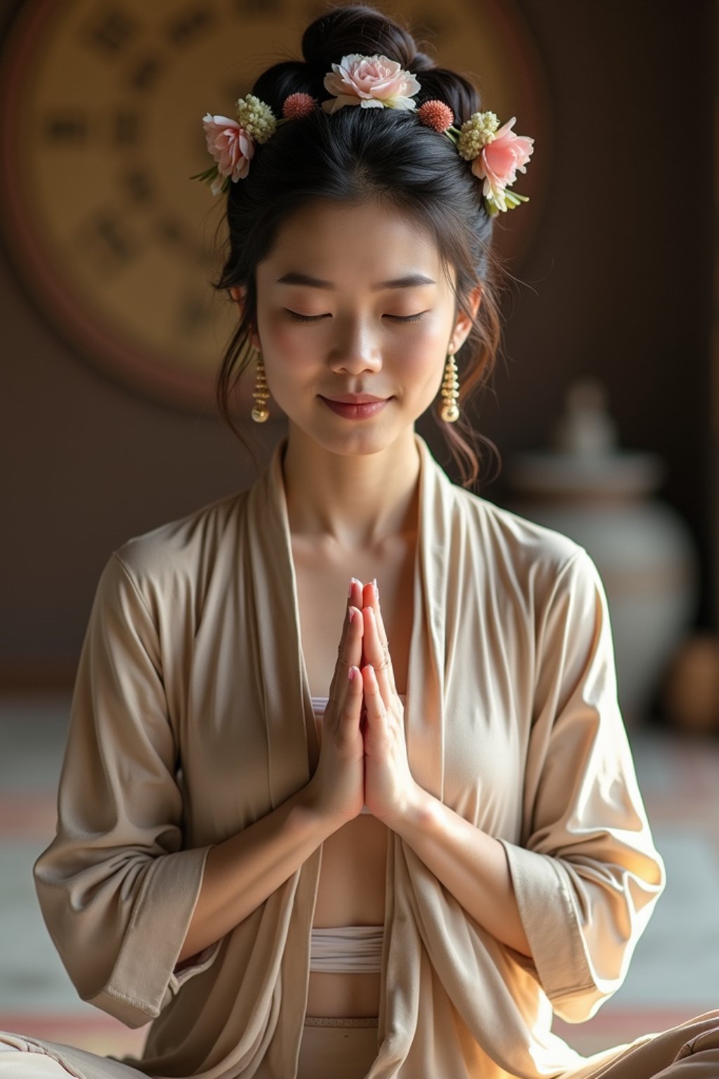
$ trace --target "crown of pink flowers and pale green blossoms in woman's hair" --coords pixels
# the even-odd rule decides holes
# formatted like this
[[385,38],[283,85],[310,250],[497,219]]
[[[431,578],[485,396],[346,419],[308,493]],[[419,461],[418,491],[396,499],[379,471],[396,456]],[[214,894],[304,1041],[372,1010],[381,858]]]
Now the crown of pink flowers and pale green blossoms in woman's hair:
[[[425,101],[417,109],[413,97],[420,90],[419,82],[386,56],[357,53],[343,56],[326,74],[324,88],[332,97],[322,101],[322,109],[330,113],[348,105],[363,109],[416,109],[423,124],[446,135],[459,155],[472,163],[472,173],[483,181],[482,194],[489,215],[529,201],[526,195],[508,190],[517,170],[526,173],[535,141],[514,134],[515,117],[500,126],[494,112],[473,112],[461,127],[455,127],[454,113],[444,101]],[[236,183],[247,176],[255,142],[266,142],[288,120],[309,115],[317,104],[309,94],[290,94],[282,105],[282,117],[277,120],[268,105],[247,94],[237,101],[236,120],[206,113],[203,126],[215,164],[192,179],[209,183],[212,194],[226,191],[230,181]]]

